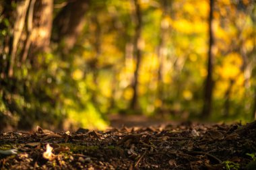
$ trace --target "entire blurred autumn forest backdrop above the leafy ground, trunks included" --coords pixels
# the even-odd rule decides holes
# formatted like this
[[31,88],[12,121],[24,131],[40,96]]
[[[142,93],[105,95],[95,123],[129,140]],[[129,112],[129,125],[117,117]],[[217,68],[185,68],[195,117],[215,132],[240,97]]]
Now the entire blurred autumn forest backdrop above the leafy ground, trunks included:
[[0,0],[0,124],[256,116],[253,0]]

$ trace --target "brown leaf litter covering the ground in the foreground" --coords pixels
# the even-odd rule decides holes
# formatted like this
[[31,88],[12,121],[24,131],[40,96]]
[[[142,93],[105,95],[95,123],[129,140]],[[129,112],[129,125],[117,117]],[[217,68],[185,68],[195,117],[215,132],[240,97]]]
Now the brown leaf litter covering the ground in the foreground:
[[256,122],[0,134],[0,169],[256,169]]

